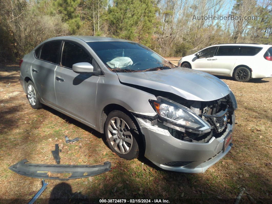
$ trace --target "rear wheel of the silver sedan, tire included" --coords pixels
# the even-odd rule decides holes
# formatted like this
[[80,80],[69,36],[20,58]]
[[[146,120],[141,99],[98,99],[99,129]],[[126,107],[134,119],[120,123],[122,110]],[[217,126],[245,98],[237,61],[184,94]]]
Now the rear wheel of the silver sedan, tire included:
[[[26,84],[26,98],[28,99],[28,102],[32,108],[34,109],[42,108],[42,103],[40,102],[40,96],[32,81],[28,81]],[[32,100],[32,98],[35,98],[35,102]]]

